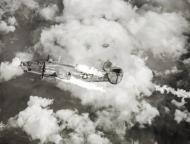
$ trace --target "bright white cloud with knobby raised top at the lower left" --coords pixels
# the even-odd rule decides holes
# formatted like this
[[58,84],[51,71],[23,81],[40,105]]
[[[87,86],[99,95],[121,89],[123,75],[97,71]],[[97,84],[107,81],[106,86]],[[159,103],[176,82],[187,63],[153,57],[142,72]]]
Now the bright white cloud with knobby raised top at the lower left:
[[48,106],[53,100],[31,96],[28,107],[9,120],[10,126],[23,128],[32,139],[40,139],[42,143],[59,136],[59,126],[53,110]]

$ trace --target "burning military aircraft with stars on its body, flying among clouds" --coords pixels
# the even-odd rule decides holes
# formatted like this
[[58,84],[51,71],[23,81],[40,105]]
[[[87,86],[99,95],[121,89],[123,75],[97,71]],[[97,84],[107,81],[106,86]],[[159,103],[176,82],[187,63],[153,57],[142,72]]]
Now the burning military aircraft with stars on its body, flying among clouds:
[[102,69],[98,70],[87,65],[77,64],[76,66],[63,64],[61,62],[48,59],[45,61],[27,61],[21,62],[21,68],[24,72],[31,72],[41,75],[42,79],[66,79],[71,77],[87,82],[109,82],[118,84],[123,78],[123,70],[112,66],[110,61],[104,62]]

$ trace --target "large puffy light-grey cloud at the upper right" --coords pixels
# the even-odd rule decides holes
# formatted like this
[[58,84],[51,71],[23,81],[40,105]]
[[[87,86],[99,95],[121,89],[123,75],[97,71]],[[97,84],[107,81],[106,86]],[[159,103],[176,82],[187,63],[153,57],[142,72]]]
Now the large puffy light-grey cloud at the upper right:
[[135,36],[138,49],[150,50],[155,56],[179,57],[186,52],[187,20],[178,13],[147,12],[132,19],[128,30]]

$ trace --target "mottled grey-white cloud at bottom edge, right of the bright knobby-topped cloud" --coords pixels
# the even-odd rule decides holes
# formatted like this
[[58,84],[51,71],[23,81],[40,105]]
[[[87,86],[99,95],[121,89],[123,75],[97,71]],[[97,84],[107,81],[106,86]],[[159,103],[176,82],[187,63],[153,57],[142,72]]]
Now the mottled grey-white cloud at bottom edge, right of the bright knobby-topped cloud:
[[70,143],[83,144],[85,141],[88,144],[110,144],[110,141],[103,137],[102,134],[96,131],[95,124],[88,118],[88,114],[78,115],[75,111],[59,110],[56,116],[61,120],[61,128],[74,130],[69,134]]

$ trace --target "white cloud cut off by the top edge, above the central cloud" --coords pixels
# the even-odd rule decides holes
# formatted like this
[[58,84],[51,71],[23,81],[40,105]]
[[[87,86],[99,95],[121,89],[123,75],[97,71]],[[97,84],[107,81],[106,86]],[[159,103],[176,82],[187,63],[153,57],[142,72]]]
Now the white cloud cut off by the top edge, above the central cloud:
[[63,0],[64,19],[89,19],[105,17],[109,20],[129,19],[135,9],[123,0]]

